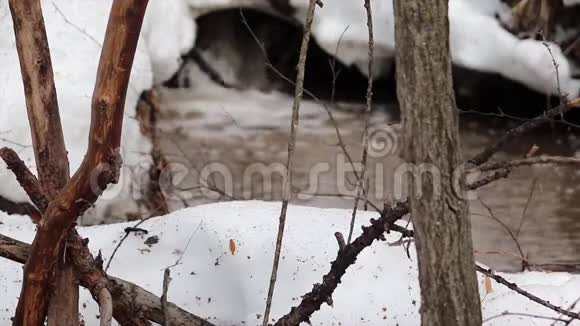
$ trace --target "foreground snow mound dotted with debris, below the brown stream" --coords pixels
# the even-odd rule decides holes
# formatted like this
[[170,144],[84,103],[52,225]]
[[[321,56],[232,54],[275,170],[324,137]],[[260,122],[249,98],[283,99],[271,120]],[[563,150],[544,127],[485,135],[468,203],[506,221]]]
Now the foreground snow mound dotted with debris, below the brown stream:
[[[117,252],[109,272],[161,294],[163,269],[183,257],[172,268],[169,299],[185,309],[208,318],[216,325],[261,325],[261,314],[270,277],[271,260],[280,204],[229,202],[181,210],[150,219],[140,227],[148,234],[131,234]],[[274,296],[273,318],[297,305],[300,295],[321,280],[334,260],[337,244],[334,232],[347,232],[349,210],[290,206],[287,229]],[[356,228],[376,214],[361,212]],[[31,241],[34,226],[24,217],[0,217],[0,233]],[[133,224],[111,224],[79,228],[90,238],[93,253],[102,251],[105,264],[124,228]],[[147,245],[150,237],[158,242]],[[188,241],[191,242],[188,246]],[[312,325],[419,325],[419,286],[416,256],[387,242],[376,242],[359,256],[334,295],[334,307],[324,305],[315,313]],[[230,251],[230,242],[235,251]],[[155,241],[147,241],[155,242]],[[13,313],[21,286],[21,266],[0,263],[0,323]],[[504,275],[523,288],[556,305],[567,306],[577,298],[580,277],[565,273],[522,273]],[[485,294],[479,276],[484,318],[508,310],[540,316],[552,311],[492,284]],[[97,306],[83,291],[82,315],[86,325],[98,325]],[[550,325],[551,320],[524,316],[502,316],[486,325]]]

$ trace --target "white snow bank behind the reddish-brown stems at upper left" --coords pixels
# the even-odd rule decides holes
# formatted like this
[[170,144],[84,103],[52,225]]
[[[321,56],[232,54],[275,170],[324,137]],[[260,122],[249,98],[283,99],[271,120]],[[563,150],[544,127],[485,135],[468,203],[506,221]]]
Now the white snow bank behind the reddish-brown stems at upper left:
[[[139,187],[150,165],[150,144],[141,135],[134,118],[137,100],[143,90],[153,85],[153,72],[157,73],[156,81],[173,74],[180,51],[187,44],[193,44],[192,21],[181,0],[153,0],[149,6],[143,27],[146,42],[143,39],[139,42],[125,106],[121,148],[125,166],[121,184],[106,192],[88,215],[120,216],[137,209]],[[78,168],[86,151],[91,95],[110,7],[110,0],[43,2],[71,173]],[[172,19],[166,19],[167,15]],[[15,149],[34,171],[24,91],[6,1],[0,2],[0,31],[0,80],[3,83],[0,88],[0,147]],[[28,200],[3,163],[0,164],[0,184],[0,196],[13,201]]]

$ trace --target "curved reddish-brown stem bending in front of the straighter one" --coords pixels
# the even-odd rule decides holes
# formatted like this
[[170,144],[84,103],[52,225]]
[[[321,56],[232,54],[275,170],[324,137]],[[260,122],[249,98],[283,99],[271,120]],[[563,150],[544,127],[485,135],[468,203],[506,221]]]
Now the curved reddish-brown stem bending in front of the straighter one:
[[[49,280],[68,231],[106,186],[118,179],[125,96],[146,7],[147,0],[113,2],[93,93],[87,154],[79,170],[50,202],[39,223],[24,267],[14,325],[42,325]],[[19,24],[23,21],[15,21],[15,29]]]

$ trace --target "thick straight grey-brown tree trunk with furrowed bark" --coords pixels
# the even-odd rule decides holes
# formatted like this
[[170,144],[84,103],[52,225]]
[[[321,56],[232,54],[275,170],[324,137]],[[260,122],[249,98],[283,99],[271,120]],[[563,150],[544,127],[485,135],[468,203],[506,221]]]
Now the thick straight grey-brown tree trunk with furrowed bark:
[[[394,0],[397,97],[421,286],[421,323],[481,325],[464,198],[448,0]],[[425,172],[419,174],[420,172]]]

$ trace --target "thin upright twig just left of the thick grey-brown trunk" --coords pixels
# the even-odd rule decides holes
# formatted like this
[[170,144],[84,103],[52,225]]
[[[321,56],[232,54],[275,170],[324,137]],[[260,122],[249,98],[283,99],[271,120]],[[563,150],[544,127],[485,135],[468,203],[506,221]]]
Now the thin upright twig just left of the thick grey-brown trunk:
[[358,209],[358,203],[360,201],[360,196],[362,193],[364,193],[365,195],[365,199],[366,199],[366,191],[365,191],[365,187],[364,187],[364,180],[365,180],[365,175],[366,175],[366,171],[367,171],[367,157],[368,157],[368,151],[369,151],[369,122],[370,122],[370,116],[371,116],[371,110],[372,110],[372,105],[373,105],[373,79],[374,79],[374,48],[375,48],[375,41],[374,41],[374,36],[373,36],[373,14],[372,14],[372,9],[371,9],[371,1],[370,0],[365,0],[364,3],[364,7],[366,9],[366,13],[367,13],[367,28],[368,28],[368,33],[369,33],[369,40],[368,40],[368,44],[369,44],[369,74],[368,74],[368,86],[367,86],[367,94],[366,94],[366,100],[367,100],[367,108],[365,111],[365,128],[364,128],[364,132],[363,132],[363,153],[362,153],[362,159],[361,159],[361,164],[362,164],[362,171],[360,176],[358,177],[358,182],[357,182],[357,186],[356,186],[356,198],[354,200],[354,207],[352,209],[352,217],[350,220],[350,229],[348,231],[348,240],[347,243],[350,243],[350,240],[352,239],[352,232],[354,231],[354,224],[356,222],[356,211]]

